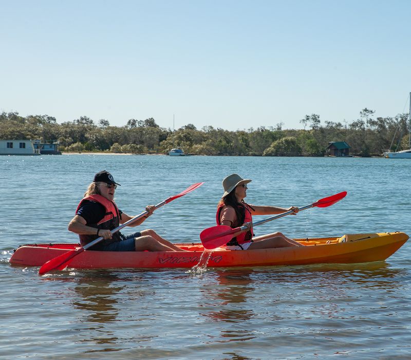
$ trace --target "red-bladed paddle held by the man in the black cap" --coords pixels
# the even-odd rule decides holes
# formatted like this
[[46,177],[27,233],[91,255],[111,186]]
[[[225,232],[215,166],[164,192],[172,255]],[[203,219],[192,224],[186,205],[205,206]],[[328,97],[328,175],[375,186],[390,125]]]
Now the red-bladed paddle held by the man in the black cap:
[[[191,185],[190,187],[186,188],[185,190],[181,191],[179,194],[174,195],[174,196],[170,196],[167,197],[167,199],[165,199],[164,201],[162,201],[161,203],[157,204],[154,209],[158,209],[159,207],[170,203],[171,201],[177,199],[180,196],[183,196],[195,189],[197,189],[198,187],[200,187],[202,184],[204,183],[196,183]],[[144,217],[146,214],[148,214],[148,211],[144,211],[142,212],[140,215],[137,215],[136,217],[134,217],[133,219],[128,220],[127,222],[125,222],[124,224],[121,224],[120,226],[116,227],[115,229],[111,230],[111,233],[115,233],[119,230],[121,230],[123,227],[134,223],[135,221],[141,219],[142,217]],[[96,245],[98,242],[100,242],[101,240],[103,240],[104,238],[101,236],[100,238],[97,238],[96,240],[91,241],[90,243],[84,245],[83,247],[78,248],[77,250],[70,250],[67,251],[67,253],[64,253],[58,257],[55,257],[49,261],[47,261],[46,263],[44,263],[42,265],[42,267],[40,267],[39,270],[39,274],[43,275],[45,273],[48,273],[49,271],[52,270],[63,270],[65,267],[67,267],[67,265],[71,262],[72,258],[74,258],[75,256],[79,255],[80,253],[82,253],[84,250],[87,250],[89,247]]]

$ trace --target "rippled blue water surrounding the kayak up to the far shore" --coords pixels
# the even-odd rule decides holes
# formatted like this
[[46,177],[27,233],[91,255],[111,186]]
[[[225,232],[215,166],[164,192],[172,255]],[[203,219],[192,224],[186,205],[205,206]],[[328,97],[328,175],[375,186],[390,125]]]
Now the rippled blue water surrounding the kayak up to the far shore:
[[20,244],[78,241],[67,224],[103,169],[122,185],[116,201],[130,215],[206,182],[145,222],[173,242],[198,241],[215,225],[221,181],[232,172],[253,179],[251,204],[304,206],[348,191],[331,207],[256,227],[257,235],[411,234],[407,159],[0,156],[0,358],[411,358],[410,241],[385,262],[197,275],[111,269],[40,277],[38,268],[10,266]]

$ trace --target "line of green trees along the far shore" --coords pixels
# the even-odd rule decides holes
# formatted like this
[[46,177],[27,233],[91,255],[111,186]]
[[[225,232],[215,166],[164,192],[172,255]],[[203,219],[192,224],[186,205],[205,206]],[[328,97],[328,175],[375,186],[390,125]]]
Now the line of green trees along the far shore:
[[129,119],[122,127],[108,120],[97,123],[87,116],[59,124],[48,115],[20,116],[0,114],[0,139],[40,139],[58,142],[66,152],[168,153],[180,148],[199,155],[324,156],[330,141],[345,141],[350,153],[379,156],[383,151],[408,148],[408,114],[374,118],[374,111],[363,109],[358,119],[348,122],[325,121],[317,114],[306,115],[304,129],[272,127],[228,131],[211,126],[196,129],[187,124],[178,130],[159,127],[153,118]]

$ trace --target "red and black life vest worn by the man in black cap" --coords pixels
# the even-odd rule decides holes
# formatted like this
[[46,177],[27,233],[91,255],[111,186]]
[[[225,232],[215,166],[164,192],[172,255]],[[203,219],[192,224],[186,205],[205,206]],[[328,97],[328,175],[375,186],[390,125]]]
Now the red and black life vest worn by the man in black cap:
[[[90,227],[95,227],[96,229],[104,229],[104,230],[113,230],[116,227],[119,226],[120,224],[120,212],[119,209],[117,208],[117,205],[108,199],[106,199],[104,196],[99,195],[99,194],[94,194],[90,196],[84,197],[80,201],[80,204],[77,206],[77,211],[79,211],[80,207],[82,206],[84,201],[94,201],[96,203],[99,203],[104,206],[105,213],[104,217],[97,223],[97,224],[87,224],[87,226]],[[97,231],[96,231],[97,232]],[[85,235],[85,234],[79,234],[80,237],[80,243],[82,246],[90,243],[93,240],[96,240],[99,238],[97,235]],[[115,242],[121,241],[120,237],[120,232],[117,231],[113,234],[113,237],[111,239],[104,239],[100,241],[98,244],[94,245],[91,247],[91,249],[97,249],[100,247],[103,247],[104,245],[112,244]]]

